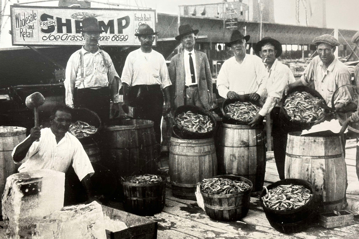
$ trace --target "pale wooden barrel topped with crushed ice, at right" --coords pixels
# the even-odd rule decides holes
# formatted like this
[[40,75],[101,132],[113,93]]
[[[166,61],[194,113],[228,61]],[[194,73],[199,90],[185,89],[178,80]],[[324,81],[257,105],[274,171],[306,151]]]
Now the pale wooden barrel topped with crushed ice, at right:
[[288,134],[285,177],[310,182],[318,212],[339,211],[346,190],[346,164],[339,136]]

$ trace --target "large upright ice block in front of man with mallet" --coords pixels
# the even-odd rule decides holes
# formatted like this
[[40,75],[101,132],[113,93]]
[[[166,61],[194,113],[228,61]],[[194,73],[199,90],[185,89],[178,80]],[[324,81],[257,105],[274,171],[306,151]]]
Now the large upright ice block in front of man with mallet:
[[64,206],[65,173],[41,169],[6,179],[2,197],[7,238],[31,236],[31,224]]

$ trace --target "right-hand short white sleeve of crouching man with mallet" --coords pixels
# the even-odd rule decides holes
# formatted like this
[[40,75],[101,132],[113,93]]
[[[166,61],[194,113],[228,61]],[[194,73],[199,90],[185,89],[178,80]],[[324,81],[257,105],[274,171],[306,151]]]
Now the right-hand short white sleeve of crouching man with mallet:
[[95,171],[93,170],[90,159],[87,156],[80,142],[78,142],[75,145],[75,152],[73,154],[72,159],[73,159],[72,167],[74,168],[74,171],[80,181],[86,175],[90,174],[90,176],[92,176],[94,174]]

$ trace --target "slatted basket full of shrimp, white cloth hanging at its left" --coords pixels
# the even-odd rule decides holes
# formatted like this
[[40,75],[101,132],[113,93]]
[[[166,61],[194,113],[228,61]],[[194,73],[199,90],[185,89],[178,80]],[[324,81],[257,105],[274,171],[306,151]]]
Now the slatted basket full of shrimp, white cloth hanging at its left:
[[219,175],[200,185],[206,214],[214,220],[237,221],[247,215],[253,185],[247,178]]

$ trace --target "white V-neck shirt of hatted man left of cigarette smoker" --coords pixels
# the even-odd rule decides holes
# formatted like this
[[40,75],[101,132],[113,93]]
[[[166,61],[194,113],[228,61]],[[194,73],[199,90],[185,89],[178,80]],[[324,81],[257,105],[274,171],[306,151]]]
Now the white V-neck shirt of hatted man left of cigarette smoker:
[[257,93],[262,96],[268,77],[261,58],[248,55],[239,64],[235,57],[226,60],[217,77],[217,89],[220,96],[227,98],[228,91],[237,94]]

